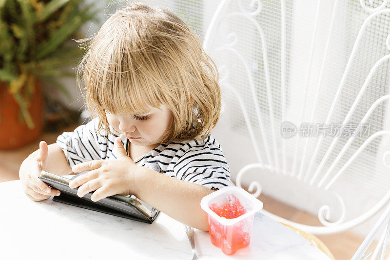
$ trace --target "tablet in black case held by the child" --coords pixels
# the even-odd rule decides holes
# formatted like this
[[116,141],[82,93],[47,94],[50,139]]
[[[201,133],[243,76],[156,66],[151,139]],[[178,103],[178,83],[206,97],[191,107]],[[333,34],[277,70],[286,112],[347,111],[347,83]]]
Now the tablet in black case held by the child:
[[54,201],[146,223],[152,223],[160,212],[142,200],[137,199],[134,195],[130,197],[114,195],[98,201],[92,201],[91,195],[93,192],[89,192],[80,198],[77,195],[78,188],[71,189],[69,187],[69,182],[79,175],[73,176],[72,179],[67,179],[56,174],[41,171],[39,179],[61,192],[59,196],[53,197]]

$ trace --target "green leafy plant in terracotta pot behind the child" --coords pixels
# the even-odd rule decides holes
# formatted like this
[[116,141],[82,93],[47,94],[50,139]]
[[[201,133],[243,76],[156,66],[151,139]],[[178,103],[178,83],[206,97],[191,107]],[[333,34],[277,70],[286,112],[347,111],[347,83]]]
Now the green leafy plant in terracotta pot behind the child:
[[[35,140],[43,128],[41,83],[60,88],[56,77],[75,77],[84,50],[72,37],[95,18],[96,1],[0,0],[0,149]],[[95,10],[93,10],[95,9]]]

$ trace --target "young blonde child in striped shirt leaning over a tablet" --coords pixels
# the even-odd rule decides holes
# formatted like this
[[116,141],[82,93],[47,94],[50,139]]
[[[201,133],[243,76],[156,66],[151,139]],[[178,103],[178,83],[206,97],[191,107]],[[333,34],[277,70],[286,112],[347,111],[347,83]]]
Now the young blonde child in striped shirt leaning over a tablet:
[[130,3],[104,22],[77,73],[93,119],[49,146],[41,141],[23,161],[26,195],[38,201],[59,192],[38,178],[42,169],[88,171],[69,183],[79,197],[133,194],[207,231],[200,200],[234,184],[210,134],[220,113],[218,73],[195,33],[172,12]]

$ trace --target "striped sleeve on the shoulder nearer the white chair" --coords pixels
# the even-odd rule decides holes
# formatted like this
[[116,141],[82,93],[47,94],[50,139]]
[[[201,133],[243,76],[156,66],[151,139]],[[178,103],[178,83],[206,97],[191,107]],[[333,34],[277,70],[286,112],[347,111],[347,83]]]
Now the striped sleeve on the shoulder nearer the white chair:
[[208,143],[186,150],[175,163],[173,170],[176,179],[200,184],[209,189],[234,186],[222,151]]

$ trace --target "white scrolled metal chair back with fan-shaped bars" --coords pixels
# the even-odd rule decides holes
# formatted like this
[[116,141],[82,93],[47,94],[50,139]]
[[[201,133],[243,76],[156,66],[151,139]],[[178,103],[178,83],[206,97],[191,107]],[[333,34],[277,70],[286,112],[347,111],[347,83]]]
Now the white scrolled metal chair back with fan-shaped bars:
[[[389,204],[387,7],[387,0],[220,1],[203,40],[223,92],[218,138],[225,135],[223,152],[235,158],[228,160],[234,169],[240,154],[253,151],[256,160],[240,165],[235,183],[241,186],[245,173],[255,171],[252,177],[267,176],[261,185],[250,183],[255,197],[272,178],[279,194],[319,194],[301,204],[318,207],[323,226],[264,214],[331,234]],[[238,148],[235,137],[250,140],[253,149]],[[283,191],[276,185],[282,181]],[[366,196],[376,200],[357,206]],[[325,197],[339,203],[336,219]]]

